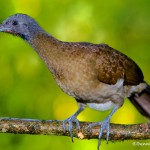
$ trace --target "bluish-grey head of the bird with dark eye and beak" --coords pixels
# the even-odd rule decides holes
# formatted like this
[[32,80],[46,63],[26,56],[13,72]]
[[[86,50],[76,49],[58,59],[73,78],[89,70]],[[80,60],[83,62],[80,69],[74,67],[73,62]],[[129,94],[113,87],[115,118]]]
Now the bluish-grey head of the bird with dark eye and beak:
[[15,14],[3,21],[0,25],[0,32],[10,33],[28,41],[33,38],[37,32],[43,32],[43,30],[30,16]]

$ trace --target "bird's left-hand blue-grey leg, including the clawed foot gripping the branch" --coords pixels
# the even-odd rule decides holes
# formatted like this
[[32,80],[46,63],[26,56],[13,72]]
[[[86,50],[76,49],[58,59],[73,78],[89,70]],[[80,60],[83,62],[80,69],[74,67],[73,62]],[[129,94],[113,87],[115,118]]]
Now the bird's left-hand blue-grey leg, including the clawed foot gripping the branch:
[[79,124],[79,121],[77,119],[77,116],[85,108],[85,104],[78,103],[78,105],[79,105],[79,109],[72,116],[70,116],[69,118],[67,118],[66,120],[63,121],[64,130],[66,130],[66,123],[68,123],[68,131],[69,131],[70,137],[72,139],[72,142],[73,142],[72,123],[75,122],[77,127],[78,127],[78,130],[80,130],[80,124]]

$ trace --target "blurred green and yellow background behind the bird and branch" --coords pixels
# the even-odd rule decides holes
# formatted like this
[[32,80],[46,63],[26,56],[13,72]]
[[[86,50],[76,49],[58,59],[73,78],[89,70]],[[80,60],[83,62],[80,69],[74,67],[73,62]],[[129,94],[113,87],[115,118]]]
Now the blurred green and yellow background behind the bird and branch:
[[[143,70],[150,83],[149,0],[5,0],[0,1],[0,22],[15,13],[35,18],[50,34],[64,41],[107,43],[127,54]],[[20,38],[0,33],[0,116],[63,120],[77,109],[75,100],[56,85],[45,64]],[[110,111],[87,108],[82,121],[100,121]],[[146,122],[126,100],[111,122]],[[0,150],[96,150],[97,140],[69,137],[0,134]],[[147,150],[134,141],[102,141],[102,150]],[[150,142],[143,140],[140,142]]]

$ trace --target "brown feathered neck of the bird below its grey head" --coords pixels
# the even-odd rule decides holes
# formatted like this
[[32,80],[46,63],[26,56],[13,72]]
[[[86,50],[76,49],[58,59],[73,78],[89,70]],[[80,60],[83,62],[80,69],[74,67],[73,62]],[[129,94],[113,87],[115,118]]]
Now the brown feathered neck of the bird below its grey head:
[[39,32],[30,39],[28,43],[35,49],[39,56],[48,65],[48,68],[53,72],[54,65],[57,64],[57,58],[60,55],[59,45],[61,41],[55,39],[46,32]]

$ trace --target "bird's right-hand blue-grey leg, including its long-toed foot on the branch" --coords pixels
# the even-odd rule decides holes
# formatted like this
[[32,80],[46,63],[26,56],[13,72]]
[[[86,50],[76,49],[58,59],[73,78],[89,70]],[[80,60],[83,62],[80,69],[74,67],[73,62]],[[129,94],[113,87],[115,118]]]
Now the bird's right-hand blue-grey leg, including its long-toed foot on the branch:
[[101,145],[100,140],[102,138],[104,130],[106,130],[106,141],[108,143],[109,133],[110,133],[110,119],[118,108],[119,108],[119,106],[115,106],[114,109],[112,110],[112,112],[108,115],[108,117],[105,120],[103,120],[101,122],[92,123],[89,125],[89,128],[92,128],[93,126],[97,126],[97,125],[101,126],[100,131],[99,131],[99,135],[98,135],[98,150],[99,150],[99,147]]

